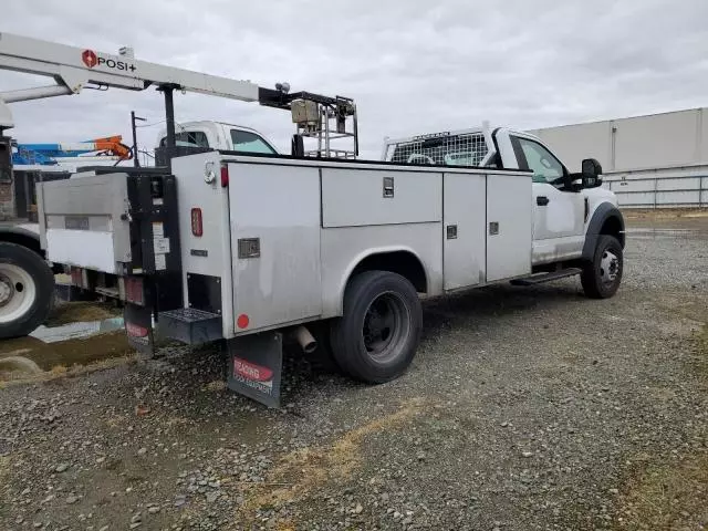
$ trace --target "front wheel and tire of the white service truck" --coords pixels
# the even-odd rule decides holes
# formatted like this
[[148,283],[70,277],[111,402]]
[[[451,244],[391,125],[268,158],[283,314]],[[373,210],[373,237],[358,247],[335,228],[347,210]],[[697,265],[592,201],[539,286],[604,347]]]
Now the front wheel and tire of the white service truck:
[[591,299],[610,299],[620,288],[623,271],[622,244],[612,236],[601,236],[593,261],[585,264],[580,275],[585,295]]

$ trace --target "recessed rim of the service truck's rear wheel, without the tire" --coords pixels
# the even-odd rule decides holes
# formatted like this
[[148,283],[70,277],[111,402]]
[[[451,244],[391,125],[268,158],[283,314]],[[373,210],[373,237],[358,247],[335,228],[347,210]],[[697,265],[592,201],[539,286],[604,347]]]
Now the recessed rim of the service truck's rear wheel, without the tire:
[[408,308],[396,293],[378,295],[366,309],[362,326],[364,347],[372,360],[387,363],[398,355],[408,336]]

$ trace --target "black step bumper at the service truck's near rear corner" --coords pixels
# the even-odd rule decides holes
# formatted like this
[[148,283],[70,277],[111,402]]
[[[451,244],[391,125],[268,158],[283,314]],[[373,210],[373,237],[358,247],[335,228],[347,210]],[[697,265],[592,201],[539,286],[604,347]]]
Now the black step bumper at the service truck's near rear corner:
[[221,315],[191,308],[159,312],[157,326],[160,336],[190,345],[223,337]]

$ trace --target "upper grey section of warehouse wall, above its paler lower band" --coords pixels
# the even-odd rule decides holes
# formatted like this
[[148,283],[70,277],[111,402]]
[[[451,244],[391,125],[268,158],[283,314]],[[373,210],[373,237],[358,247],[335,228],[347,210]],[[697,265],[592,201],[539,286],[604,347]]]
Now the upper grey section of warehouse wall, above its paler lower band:
[[531,131],[571,171],[593,157],[607,171],[708,164],[708,107]]

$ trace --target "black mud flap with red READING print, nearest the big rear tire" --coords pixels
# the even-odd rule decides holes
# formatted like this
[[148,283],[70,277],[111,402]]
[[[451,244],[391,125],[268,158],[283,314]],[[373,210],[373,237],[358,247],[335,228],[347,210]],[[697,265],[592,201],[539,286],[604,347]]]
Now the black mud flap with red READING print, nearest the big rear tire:
[[280,407],[283,336],[278,332],[227,340],[228,383],[236,391],[268,407]]

